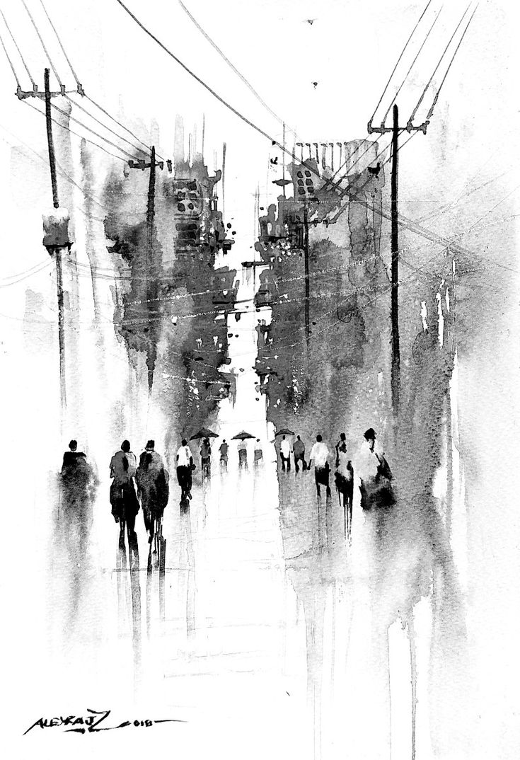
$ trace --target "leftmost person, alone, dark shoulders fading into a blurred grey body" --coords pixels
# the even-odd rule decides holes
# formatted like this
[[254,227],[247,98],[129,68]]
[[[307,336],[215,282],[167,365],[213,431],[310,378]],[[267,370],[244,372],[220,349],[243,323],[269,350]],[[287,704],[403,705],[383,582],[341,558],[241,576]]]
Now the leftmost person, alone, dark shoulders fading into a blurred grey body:
[[80,543],[83,543],[92,527],[92,503],[98,482],[86,454],[78,451],[78,442],[73,439],[68,449],[63,454],[61,473],[65,527],[69,537],[71,530],[77,529]]

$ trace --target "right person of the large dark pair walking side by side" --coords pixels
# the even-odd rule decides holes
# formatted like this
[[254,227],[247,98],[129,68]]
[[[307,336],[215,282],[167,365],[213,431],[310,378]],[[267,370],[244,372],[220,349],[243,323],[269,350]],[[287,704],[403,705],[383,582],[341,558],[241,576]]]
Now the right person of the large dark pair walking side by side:
[[169,480],[170,476],[164,467],[163,459],[155,451],[155,441],[148,441],[135,473],[148,543],[152,543],[155,533],[160,534],[164,508],[170,495]]

